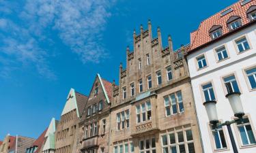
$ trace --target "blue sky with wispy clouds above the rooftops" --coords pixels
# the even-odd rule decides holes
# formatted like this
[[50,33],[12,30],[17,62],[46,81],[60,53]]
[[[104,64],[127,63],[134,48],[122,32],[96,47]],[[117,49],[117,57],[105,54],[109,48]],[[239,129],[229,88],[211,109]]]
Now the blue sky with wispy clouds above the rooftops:
[[133,29],[163,46],[188,44],[190,32],[235,0],[0,0],[0,139],[38,137],[59,119],[70,88],[89,94],[96,73],[118,80],[119,63],[132,49]]

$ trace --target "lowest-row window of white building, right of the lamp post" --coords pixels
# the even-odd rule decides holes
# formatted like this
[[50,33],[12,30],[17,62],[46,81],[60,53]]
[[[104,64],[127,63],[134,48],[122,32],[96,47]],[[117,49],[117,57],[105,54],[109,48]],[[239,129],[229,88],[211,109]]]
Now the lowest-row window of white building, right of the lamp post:
[[244,118],[243,124],[240,120],[237,120],[238,132],[240,139],[242,141],[242,146],[248,146],[256,144],[255,135],[253,134],[253,129],[251,127],[250,121],[248,118]]

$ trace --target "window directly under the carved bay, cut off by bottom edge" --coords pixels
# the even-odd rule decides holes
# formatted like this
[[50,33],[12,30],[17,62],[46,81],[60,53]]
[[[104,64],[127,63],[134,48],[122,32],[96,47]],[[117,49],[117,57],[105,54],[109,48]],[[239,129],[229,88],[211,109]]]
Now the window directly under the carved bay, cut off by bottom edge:
[[139,141],[139,152],[140,153],[156,153],[156,139],[143,139]]

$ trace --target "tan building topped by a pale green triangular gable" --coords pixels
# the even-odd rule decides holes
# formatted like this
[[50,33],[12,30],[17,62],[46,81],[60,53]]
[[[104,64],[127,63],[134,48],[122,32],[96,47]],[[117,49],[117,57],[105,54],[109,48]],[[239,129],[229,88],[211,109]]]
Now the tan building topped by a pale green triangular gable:
[[79,118],[88,97],[70,89],[55,131],[55,153],[76,152]]

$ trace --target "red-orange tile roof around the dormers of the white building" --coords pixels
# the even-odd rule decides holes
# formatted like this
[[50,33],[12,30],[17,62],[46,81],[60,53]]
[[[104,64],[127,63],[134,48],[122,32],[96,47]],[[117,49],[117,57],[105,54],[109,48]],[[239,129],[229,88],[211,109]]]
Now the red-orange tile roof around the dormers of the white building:
[[[229,31],[227,27],[227,20],[232,18],[232,16],[239,16],[241,18],[242,25],[248,24],[250,20],[246,15],[246,11],[252,5],[256,5],[256,0],[252,0],[244,5],[241,5],[241,2],[242,0],[234,3],[233,5],[230,5],[229,7],[226,7],[224,10],[221,10],[221,12],[214,14],[210,18],[203,20],[199,25],[199,28],[196,31],[190,33],[190,51],[199,48],[204,44],[209,43],[210,41],[213,41],[210,37],[209,31],[214,25],[222,27],[223,35],[230,33],[231,31]],[[232,8],[233,11],[224,16],[221,16],[221,13],[225,10],[228,10],[229,8]]]

